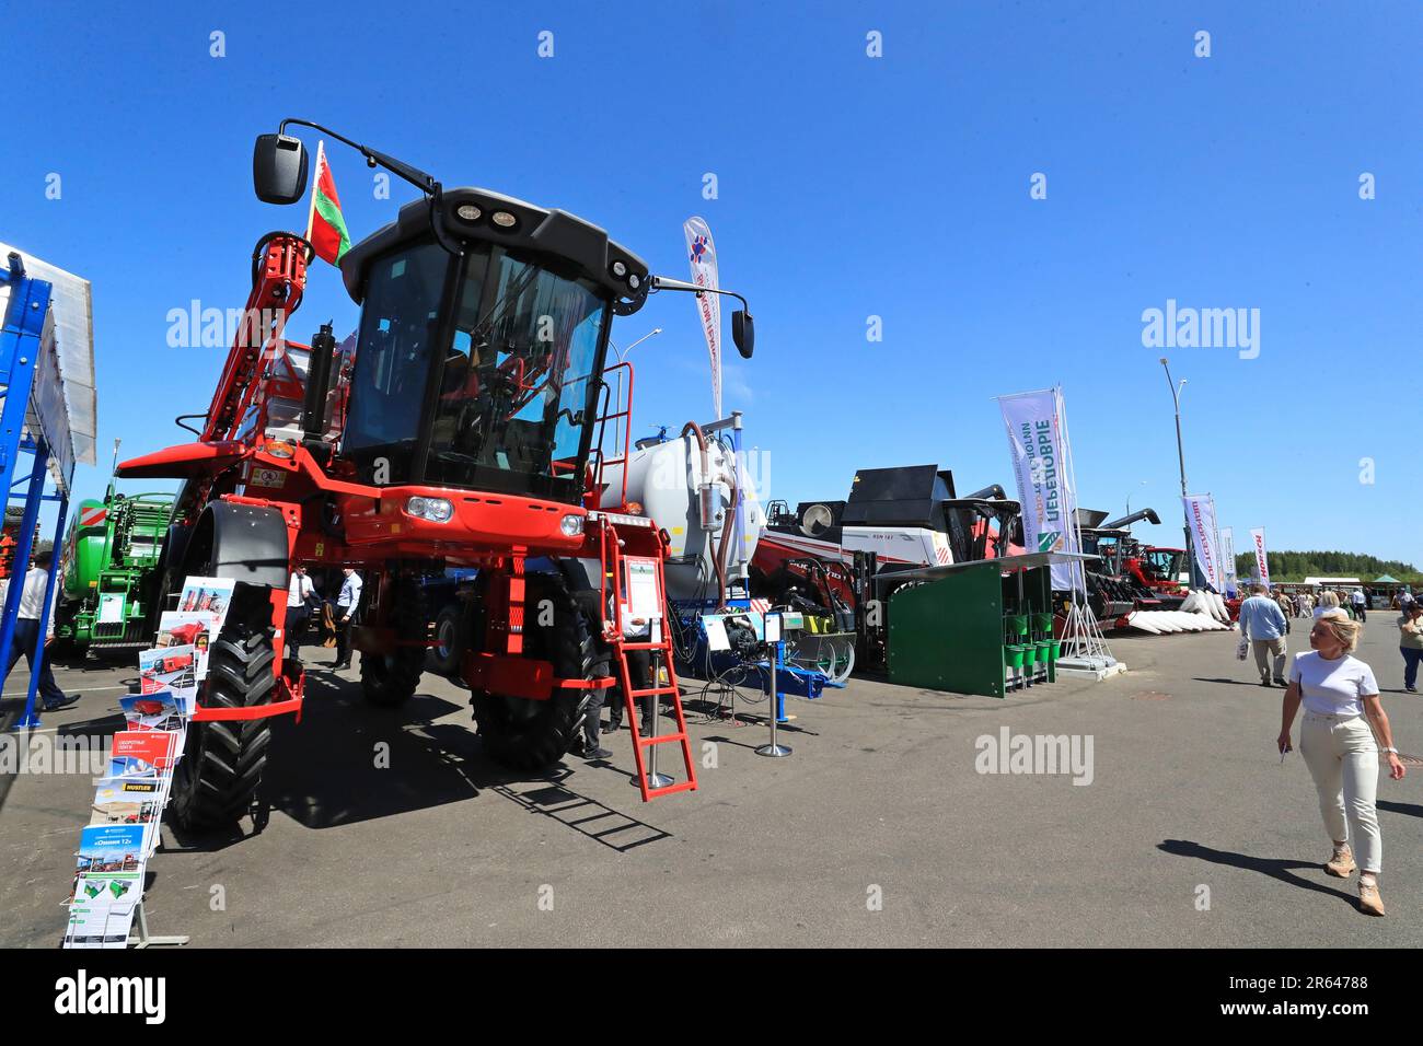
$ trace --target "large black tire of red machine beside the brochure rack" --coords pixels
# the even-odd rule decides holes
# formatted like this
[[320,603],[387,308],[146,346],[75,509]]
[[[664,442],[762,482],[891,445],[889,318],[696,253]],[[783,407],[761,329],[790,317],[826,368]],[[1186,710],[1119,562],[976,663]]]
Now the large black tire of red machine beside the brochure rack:
[[[208,707],[269,704],[276,687],[270,603],[265,591],[238,601],[208,656]],[[231,824],[252,807],[272,720],[192,723],[184,757],[174,771],[172,813],[182,828]]]

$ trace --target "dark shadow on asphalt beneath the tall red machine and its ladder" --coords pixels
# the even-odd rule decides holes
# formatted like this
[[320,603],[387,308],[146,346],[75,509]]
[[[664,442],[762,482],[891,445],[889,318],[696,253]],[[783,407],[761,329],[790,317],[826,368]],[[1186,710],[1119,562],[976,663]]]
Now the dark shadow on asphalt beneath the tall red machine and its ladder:
[[[435,722],[458,710],[465,723]],[[566,787],[562,781],[572,773],[559,764],[521,774],[485,759],[464,704],[417,692],[401,707],[373,707],[356,680],[312,666],[302,722],[283,716],[273,723],[252,827],[260,831],[270,811],[280,811],[307,828],[336,828],[462,803],[491,790],[612,850],[670,838]],[[642,805],[638,793],[628,791]],[[253,834],[243,830],[246,824],[201,835],[174,831],[174,838],[184,850],[215,851]]]

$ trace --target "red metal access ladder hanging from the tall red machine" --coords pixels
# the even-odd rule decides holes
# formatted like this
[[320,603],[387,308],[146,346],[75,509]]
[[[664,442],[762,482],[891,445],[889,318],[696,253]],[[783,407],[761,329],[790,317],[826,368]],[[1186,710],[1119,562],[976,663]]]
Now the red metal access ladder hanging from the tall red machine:
[[[632,746],[633,759],[638,764],[638,788],[642,791],[642,801],[647,803],[657,798],[659,796],[670,796],[675,791],[696,791],[697,787],[697,771],[696,764],[692,759],[692,744],[687,740],[687,719],[686,713],[682,710],[682,687],[677,683],[677,669],[673,665],[673,649],[672,649],[672,632],[663,619],[660,622],[660,639],[657,640],[630,640],[623,636],[623,620],[622,611],[623,602],[626,601],[626,575],[623,572],[625,554],[622,548],[625,545],[630,546],[645,546],[639,548],[639,552],[646,552],[645,555],[636,556],[642,562],[652,562],[656,565],[657,576],[657,592],[665,593],[666,585],[662,572],[662,555],[663,548],[657,532],[652,528],[652,521],[646,518],[636,517],[620,517],[625,522],[630,524],[625,537],[619,535],[613,519],[606,514],[599,515],[601,524],[601,545],[602,545],[602,561],[603,561],[603,582],[606,583],[612,578],[613,592],[613,620],[609,622],[612,635],[608,636],[613,646],[613,652],[618,657],[618,682],[620,683],[623,693],[623,710],[628,713],[628,726],[632,730]],[[608,598],[606,592],[602,598],[602,606],[606,609]],[[663,602],[663,606],[666,603]],[[632,685],[632,670],[628,665],[628,653],[630,650],[647,650],[655,653],[662,652],[662,657],[650,657],[652,660],[652,686],[646,689],[633,689]],[[660,662],[660,665],[659,665]],[[665,686],[659,685],[659,667],[667,670],[667,683]],[[640,722],[640,709],[638,707],[638,699],[647,697],[655,702],[653,707],[653,723],[662,719],[662,697],[672,697],[672,712],[677,720],[677,729],[670,734],[656,734],[653,737],[643,737],[638,727]],[[682,764],[686,767],[687,777],[684,781],[673,781],[662,787],[655,787],[647,784],[647,759],[646,753],[656,744],[672,744],[676,743],[682,746]]]

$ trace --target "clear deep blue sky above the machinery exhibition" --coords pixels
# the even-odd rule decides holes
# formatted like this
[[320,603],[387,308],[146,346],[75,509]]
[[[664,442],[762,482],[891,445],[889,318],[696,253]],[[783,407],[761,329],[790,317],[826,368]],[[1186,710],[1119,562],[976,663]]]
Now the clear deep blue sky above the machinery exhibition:
[[[102,491],[115,437],[125,455],[184,441],[171,418],[208,406],[223,350],[169,349],[166,317],[240,306],[256,239],[302,231],[305,206],[250,189],[252,137],[290,115],[447,185],[572,211],[679,279],[682,221],[704,216],[757,320],[726,404],[791,502],[929,461],[963,491],[1009,485],[992,397],[1062,383],[1080,502],[1151,504],[1167,525],[1143,537],[1178,544],[1143,310],[1258,309],[1257,359],[1167,353],[1188,379],[1192,490],[1215,494],[1238,546],[1264,525],[1274,548],[1419,564],[1423,14],[1241,7],[30,6],[0,36],[23,85],[0,241],[94,282],[101,464],[81,497]],[[209,56],[215,30],[226,57]],[[410,198],[374,199],[356,154],[330,157],[357,239]],[[290,333],[327,319],[344,333],[356,307],[319,263]],[[710,414],[692,299],[655,297],[615,339],[655,326],[632,356],[639,433]],[[729,309],[724,326],[730,343]]]

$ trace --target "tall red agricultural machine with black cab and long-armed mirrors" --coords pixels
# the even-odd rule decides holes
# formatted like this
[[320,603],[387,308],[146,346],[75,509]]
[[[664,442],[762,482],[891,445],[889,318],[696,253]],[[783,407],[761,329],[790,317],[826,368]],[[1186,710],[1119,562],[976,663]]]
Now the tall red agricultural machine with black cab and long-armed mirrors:
[[[344,287],[361,306],[346,346],[330,324],[310,346],[285,340],[313,248],[293,233],[263,236],[250,322],[208,410],[178,420],[201,420],[196,441],[120,467],[185,480],[159,608],[189,575],[239,582],[174,781],[176,820],[208,825],[245,813],[272,719],[300,712],[302,666],[283,645],[296,564],[364,574],[353,645],[366,699],[387,707],[414,694],[425,663],[421,578],[477,568],[461,676],[485,753],[518,770],[555,763],[616,673],[629,704],[666,696],[675,710],[676,730],[656,737],[642,737],[628,713],[643,798],[694,788],[669,632],[623,639],[625,613],[662,616],[667,534],[626,504],[626,491],[605,490],[603,465],[630,455],[629,427],[618,424],[630,403],[615,401],[605,357],[615,315],[638,312],[652,292],[684,290],[741,302],[731,333],[750,359],[746,300],[653,276],[571,213],[445,189],[302,120],[258,138],[253,182],[265,202],[295,204],[306,191],[306,151],[286,134],[290,124],[359,149],[421,198],[342,258]],[[622,441],[605,451],[609,420]],[[660,660],[669,682],[655,672],[650,687],[633,689],[635,649]],[[665,743],[680,744],[686,776],[650,787],[645,754]]]

